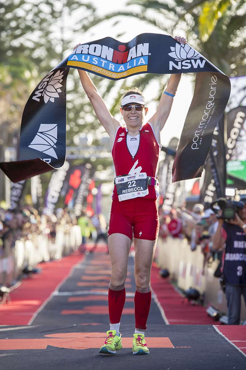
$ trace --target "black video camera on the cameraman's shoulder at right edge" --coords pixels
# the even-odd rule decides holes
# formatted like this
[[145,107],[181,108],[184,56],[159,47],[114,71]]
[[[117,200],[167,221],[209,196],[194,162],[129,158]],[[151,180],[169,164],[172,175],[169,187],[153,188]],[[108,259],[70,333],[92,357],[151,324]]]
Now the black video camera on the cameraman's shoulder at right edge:
[[[235,219],[236,213],[238,213],[245,206],[243,201],[228,201],[226,198],[219,198],[214,201],[210,208],[213,212],[219,212],[218,207],[222,210],[221,218],[225,221],[233,221]],[[218,217],[218,216],[217,216]]]

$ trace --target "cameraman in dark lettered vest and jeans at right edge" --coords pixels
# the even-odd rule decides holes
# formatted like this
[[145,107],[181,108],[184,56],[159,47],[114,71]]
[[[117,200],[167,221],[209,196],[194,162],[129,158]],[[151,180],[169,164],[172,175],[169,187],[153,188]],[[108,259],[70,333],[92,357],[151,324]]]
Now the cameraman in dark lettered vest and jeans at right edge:
[[[213,236],[213,249],[223,251],[222,269],[226,286],[228,324],[239,325],[241,295],[246,304],[246,199],[233,221],[219,218],[218,229]],[[221,216],[221,211],[219,211]]]

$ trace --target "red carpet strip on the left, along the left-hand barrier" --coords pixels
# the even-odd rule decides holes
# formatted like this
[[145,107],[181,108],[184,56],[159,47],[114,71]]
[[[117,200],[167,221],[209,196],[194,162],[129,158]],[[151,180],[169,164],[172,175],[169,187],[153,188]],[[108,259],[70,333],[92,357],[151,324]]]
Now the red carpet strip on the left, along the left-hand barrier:
[[82,255],[76,252],[59,261],[38,264],[42,272],[22,280],[21,285],[10,293],[11,302],[0,306],[0,325],[27,325],[72,266],[81,259]]

